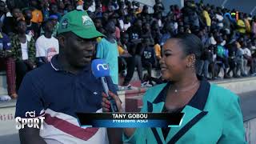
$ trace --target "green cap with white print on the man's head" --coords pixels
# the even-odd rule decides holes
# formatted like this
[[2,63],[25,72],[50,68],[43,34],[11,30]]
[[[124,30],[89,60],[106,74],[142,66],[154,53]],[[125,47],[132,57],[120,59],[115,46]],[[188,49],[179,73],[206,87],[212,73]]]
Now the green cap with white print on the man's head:
[[86,11],[73,10],[62,17],[58,25],[58,34],[69,31],[81,38],[105,37],[104,34],[96,30],[93,20]]

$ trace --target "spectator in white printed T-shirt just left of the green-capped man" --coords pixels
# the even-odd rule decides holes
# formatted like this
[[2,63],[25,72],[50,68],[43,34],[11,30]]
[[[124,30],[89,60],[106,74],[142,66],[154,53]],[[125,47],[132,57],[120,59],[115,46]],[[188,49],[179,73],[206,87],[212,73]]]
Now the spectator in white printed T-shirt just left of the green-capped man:
[[55,54],[58,54],[59,51],[58,39],[52,36],[54,31],[53,22],[51,20],[43,22],[42,29],[45,33],[42,34],[35,42],[38,66],[50,62],[51,58]]

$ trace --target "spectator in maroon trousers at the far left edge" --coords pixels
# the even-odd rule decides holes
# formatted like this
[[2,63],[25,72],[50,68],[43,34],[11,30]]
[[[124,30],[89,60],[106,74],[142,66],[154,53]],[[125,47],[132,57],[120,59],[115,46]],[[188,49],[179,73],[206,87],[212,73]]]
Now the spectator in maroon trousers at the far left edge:
[[[2,22],[0,22],[0,30],[2,31]],[[0,32],[0,71],[6,70],[8,95],[10,95],[11,98],[17,98],[18,94],[16,93],[15,86],[15,62],[11,57],[10,38],[6,34]]]

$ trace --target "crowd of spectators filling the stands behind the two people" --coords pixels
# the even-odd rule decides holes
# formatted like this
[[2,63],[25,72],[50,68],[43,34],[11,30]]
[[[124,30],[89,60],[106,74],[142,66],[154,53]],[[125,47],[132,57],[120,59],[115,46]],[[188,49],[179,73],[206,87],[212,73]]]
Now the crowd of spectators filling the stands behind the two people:
[[[24,75],[58,54],[58,22],[71,10],[87,10],[97,30],[106,35],[97,39],[95,57],[119,55],[118,62],[110,65],[125,77],[122,86],[130,86],[135,68],[142,86],[154,85],[152,79],[161,81],[152,78],[151,70],[159,70],[166,40],[180,33],[193,33],[202,40],[198,75],[214,80],[222,69],[223,78],[255,75],[255,16],[193,0],[185,0],[182,9],[155,0],[154,12],[149,9],[128,0],[0,1],[0,68],[6,70],[8,94],[16,98]],[[170,9],[167,14],[166,9]],[[116,46],[118,54],[106,50],[107,45]],[[144,76],[143,69],[147,70]],[[113,75],[118,84],[117,74]]]

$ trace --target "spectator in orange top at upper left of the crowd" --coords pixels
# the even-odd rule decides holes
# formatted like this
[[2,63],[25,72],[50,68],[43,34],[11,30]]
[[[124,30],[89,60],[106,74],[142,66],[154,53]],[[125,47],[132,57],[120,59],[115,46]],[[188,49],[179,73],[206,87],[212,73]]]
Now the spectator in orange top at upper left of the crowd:
[[43,21],[43,16],[42,16],[42,11],[39,10],[39,5],[38,5],[38,0],[31,0],[30,1],[30,9],[32,10],[32,22],[35,23],[42,23]]

